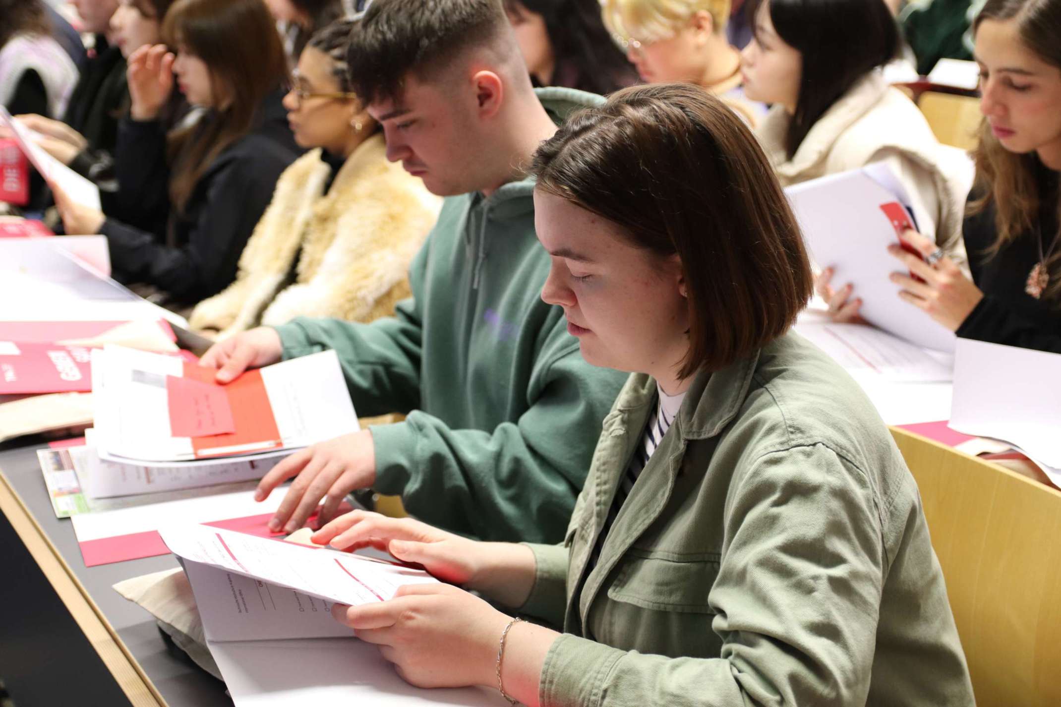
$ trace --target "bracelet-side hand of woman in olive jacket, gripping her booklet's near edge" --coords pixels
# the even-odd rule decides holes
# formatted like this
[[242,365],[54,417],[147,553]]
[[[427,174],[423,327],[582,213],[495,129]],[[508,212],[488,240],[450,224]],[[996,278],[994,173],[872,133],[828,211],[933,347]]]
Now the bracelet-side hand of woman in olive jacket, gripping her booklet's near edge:
[[511,621],[448,584],[405,585],[390,601],[336,604],[332,616],[376,643],[406,683],[422,688],[495,687],[498,645]]

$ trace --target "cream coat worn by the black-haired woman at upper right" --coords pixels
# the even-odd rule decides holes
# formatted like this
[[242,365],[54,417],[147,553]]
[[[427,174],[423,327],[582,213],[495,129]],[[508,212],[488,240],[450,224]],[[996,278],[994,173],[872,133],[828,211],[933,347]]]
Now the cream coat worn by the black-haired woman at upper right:
[[789,159],[789,116],[773,106],[755,131],[784,187],[887,162],[914,202],[922,235],[957,262],[966,261],[962,209],[970,162],[941,145],[918,107],[876,71],[856,83],[818,119]]

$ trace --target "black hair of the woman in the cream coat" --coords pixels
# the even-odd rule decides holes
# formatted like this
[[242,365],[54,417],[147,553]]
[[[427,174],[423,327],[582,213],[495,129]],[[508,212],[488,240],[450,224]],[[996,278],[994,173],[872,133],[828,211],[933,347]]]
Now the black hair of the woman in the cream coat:
[[778,36],[803,55],[796,113],[785,136],[792,158],[837,99],[895,58],[899,25],[883,0],[751,0],[749,17],[763,4]]

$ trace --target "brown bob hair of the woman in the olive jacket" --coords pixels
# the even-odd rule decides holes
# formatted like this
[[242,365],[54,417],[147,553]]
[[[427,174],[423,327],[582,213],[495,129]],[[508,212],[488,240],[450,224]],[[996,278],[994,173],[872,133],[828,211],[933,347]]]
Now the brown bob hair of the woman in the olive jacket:
[[681,260],[690,351],[679,375],[717,370],[795,323],[813,276],[770,162],[731,108],[698,86],[623,89],[571,116],[535,154],[538,189]]

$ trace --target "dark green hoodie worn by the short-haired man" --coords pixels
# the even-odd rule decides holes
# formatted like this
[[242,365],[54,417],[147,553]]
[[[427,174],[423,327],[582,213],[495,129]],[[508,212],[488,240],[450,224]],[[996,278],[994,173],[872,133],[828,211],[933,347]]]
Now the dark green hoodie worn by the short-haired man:
[[[599,97],[541,89],[556,118]],[[435,525],[487,540],[557,542],[601,420],[625,376],[586,363],[559,307],[541,300],[550,257],[533,179],[446,200],[410,269],[413,297],[372,324],[298,318],[284,358],[334,348],[371,428],[377,482]]]

